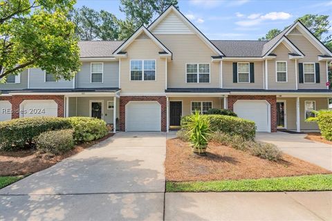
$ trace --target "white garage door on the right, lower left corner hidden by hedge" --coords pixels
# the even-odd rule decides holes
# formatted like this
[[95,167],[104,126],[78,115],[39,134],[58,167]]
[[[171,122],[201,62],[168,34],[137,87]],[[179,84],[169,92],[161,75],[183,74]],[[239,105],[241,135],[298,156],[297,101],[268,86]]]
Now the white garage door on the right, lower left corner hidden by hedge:
[[256,123],[257,132],[270,132],[270,105],[266,101],[237,101],[234,112]]

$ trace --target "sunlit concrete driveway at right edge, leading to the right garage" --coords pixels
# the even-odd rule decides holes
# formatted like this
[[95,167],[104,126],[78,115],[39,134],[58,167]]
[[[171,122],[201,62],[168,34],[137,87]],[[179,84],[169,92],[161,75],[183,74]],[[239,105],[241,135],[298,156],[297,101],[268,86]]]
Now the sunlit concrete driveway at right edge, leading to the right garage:
[[332,145],[304,139],[306,134],[257,133],[256,140],[277,145],[284,153],[332,171]]

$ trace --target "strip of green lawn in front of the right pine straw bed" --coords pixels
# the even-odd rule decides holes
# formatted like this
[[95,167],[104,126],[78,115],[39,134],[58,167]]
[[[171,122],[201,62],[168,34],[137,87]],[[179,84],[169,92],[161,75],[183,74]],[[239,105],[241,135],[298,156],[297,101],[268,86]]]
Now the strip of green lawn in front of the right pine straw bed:
[[264,191],[331,191],[332,174],[302,175],[257,180],[221,180],[208,182],[167,182],[167,192],[264,192]]

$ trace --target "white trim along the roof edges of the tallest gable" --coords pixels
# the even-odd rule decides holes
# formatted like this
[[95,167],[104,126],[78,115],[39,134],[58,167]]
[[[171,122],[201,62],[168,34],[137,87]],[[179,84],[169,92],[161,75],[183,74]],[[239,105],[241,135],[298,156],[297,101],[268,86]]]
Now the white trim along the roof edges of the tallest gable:
[[192,30],[194,30],[194,32],[196,32],[196,34],[199,36],[199,38],[212,50],[214,50],[214,52],[216,52],[218,55],[224,56],[223,53],[216,48],[216,46],[214,46],[214,44],[211,43],[211,41],[205,37],[205,35],[203,35],[203,33],[196,28],[196,26],[194,26],[179,10],[177,10],[174,6],[169,6],[169,8],[167,10],[165,10],[165,12],[163,12],[163,14],[161,14],[156,20],[154,20],[151,25],[148,27],[148,29],[151,31],[153,30],[158,23],[160,23],[160,21],[163,21],[163,19],[169,14],[169,12],[174,12],[176,15],[178,15],[178,17],[180,17],[181,19],[183,19],[183,21],[190,26],[190,28],[192,28]]

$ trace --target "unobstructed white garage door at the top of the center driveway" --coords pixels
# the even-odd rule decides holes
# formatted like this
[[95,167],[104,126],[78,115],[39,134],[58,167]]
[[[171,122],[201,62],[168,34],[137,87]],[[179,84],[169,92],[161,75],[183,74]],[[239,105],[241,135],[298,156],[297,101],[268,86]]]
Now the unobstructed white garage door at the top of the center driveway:
[[160,131],[161,106],[158,102],[129,102],[126,131]]

